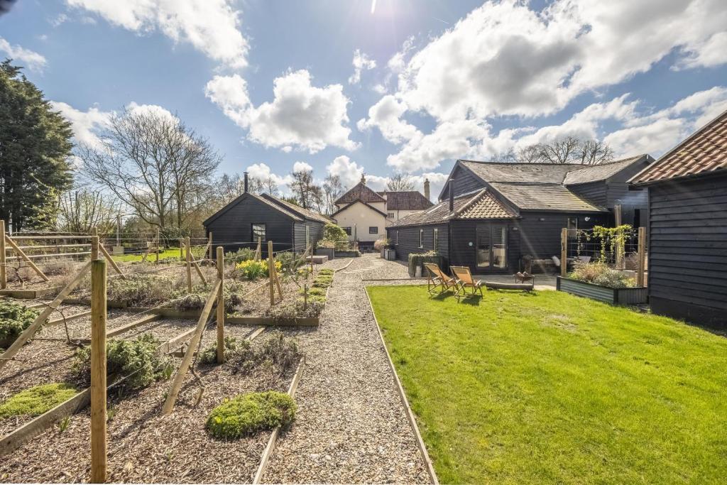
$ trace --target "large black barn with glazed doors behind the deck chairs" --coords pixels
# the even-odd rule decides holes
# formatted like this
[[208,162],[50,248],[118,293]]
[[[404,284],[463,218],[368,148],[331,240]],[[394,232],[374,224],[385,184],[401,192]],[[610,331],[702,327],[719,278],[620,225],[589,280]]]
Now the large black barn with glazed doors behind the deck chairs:
[[397,258],[438,252],[445,265],[473,273],[515,273],[523,257],[550,260],[561,251],[561,229],[646,220],[648,196],[628,180],[654,159],[648,155],[598,165],[515,164],[458,160],[439,203],[396,221],[387,237]]

